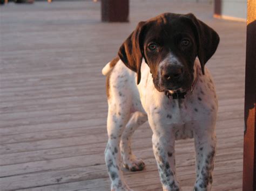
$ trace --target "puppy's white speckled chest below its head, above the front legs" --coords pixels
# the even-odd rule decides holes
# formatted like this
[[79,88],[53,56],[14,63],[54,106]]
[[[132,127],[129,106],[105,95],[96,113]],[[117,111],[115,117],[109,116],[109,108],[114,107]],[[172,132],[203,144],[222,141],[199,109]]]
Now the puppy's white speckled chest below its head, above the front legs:
[[218,102],[210,73],[199,73],[193,92],[187,91],[185,98],[168,98],[154,87],[149,69],[143,68],[142,81],[138,86],[140,101],[156,131],[171,132],[176,139],[193,138],[195,128],[215,120]]

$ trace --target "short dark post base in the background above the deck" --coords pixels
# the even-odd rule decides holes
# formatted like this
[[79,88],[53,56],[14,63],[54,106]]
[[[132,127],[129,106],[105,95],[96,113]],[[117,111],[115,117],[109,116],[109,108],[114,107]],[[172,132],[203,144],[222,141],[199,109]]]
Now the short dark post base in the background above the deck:
[[129,0],[102,0],[103,22],[128,22]]

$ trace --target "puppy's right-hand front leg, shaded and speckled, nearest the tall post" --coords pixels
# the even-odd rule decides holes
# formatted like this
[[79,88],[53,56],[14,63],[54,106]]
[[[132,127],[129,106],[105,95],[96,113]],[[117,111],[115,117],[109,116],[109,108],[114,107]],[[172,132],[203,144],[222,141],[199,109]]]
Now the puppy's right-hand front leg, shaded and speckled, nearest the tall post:
[[215,130],[200,130],[194,133],[197,160],[197,180],[194,190],[211,190],[214,167],[216,136]]

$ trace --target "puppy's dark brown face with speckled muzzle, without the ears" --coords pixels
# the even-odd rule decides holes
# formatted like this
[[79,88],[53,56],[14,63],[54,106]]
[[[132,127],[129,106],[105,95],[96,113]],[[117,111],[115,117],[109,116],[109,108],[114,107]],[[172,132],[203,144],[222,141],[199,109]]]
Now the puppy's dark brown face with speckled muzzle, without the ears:
[[197,56],[192,26],[171,13],[149,20],[144,34],[144,58],[159,91],[188,89]]

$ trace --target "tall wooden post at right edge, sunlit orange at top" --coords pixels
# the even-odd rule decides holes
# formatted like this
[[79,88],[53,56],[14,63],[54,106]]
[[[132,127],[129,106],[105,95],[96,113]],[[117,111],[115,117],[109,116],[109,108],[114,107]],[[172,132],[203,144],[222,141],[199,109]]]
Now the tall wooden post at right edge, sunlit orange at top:
[[256,2],[247,0],[247,37],[245,69],[245,133],[244,133],[244,171],[242,190],[256,190]]

